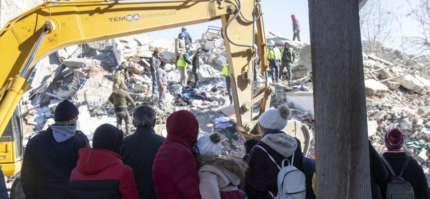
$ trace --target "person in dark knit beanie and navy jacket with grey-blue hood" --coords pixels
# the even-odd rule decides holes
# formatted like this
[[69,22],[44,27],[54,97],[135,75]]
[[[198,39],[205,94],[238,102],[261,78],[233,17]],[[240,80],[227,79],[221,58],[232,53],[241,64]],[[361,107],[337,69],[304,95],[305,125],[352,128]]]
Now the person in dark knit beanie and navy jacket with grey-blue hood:
[[76,130],[79,110],[69,100],[54,110],[52,125],[28,141],[21,170],[26,199],[70,199],[70,174],[81,148],[90,147],[87,136]]

